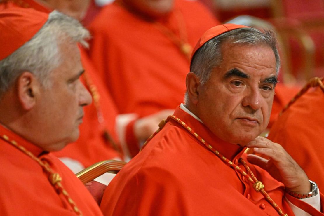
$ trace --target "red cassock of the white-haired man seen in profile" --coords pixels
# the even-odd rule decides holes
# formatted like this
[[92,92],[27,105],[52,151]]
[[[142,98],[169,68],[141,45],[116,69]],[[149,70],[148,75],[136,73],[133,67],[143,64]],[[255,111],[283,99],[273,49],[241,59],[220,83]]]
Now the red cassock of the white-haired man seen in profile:
[[30,156],[10,144],[13,141],[62,177],[62,186],[83,215],[102,215],[82,182],[59,159],[0,125],[1,215],[76,215],[63,193],[58,194],[51,185],[48,174]]

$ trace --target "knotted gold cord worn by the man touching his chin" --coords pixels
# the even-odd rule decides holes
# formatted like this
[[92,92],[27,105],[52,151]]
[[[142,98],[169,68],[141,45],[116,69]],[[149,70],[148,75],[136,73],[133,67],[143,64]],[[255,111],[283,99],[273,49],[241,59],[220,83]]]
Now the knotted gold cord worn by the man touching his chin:
[[[214,149],[213,146],[208,144],[203,138],[201,138],[196,132],[194,132],[185,122],[181,121],[179,118],[177,118],[174,115],[170,115],[166,120],[162,120],[159,124],[159,129],[153,133],[152,136],[150,136],[146,142],[144,143],[142,149],[146,146],[148,142],[159,132],[161,129],[165,126],[166,122],[168,122],[170,119],[175,120],[178,122],[183,128],[185,128],[187,131],[189,131],[199,142],[201,142],[208,150],[213,152],[214,154],[217,155],[223,162],[231,167],[233,167],[235,170],[240,172],[243,176],[247,177],[247,179],[253,184],[253,188],[255,191],[260,192],[264,198],[272,205],[272,207],[279,213],[281,216],[288,216],[285,214],[280,207],[271,199],[269,194],[264,190],[264,185],[262,184],[261,181],[258,181],[258,179],[254,176],[253,172],[251,171],[250,167],[246,164],[246,162],[240,158],[239,162],[243,164],[243,166],[246,168],[250,176],[244,172],[239,166],[235,165],[232,161],[228,160],[225,156],[223,156],[221,153],[219,153],[217,150]],[[142,150],[141,149],[141,150]]]

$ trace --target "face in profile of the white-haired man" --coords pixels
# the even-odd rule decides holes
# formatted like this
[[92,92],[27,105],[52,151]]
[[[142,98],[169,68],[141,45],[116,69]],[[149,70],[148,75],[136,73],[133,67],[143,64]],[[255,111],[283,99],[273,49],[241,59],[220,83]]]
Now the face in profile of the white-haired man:
[[83,72],[76,44],[61,47],[62,64],[49,76],[50,87],[41,89],[37,107],[40,130],[47,142],[43,149],[57,151],[79,137],[83,106],[91,103],[91,95],[81,83]]

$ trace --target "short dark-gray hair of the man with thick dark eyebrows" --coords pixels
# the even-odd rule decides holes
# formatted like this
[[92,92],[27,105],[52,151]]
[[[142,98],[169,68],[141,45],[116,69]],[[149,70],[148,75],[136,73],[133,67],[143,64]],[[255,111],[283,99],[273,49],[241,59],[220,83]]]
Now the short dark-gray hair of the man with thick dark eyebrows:
[[[200,78],[201,85],[204,85],[208,81],[213,69],[221,64],[221,47],[224,42],[231,44],[269,46],[276,59],[276,74],[278,75],[280,57],[276,47],[277,40],[275,33],[272,30],[264,30],[261,32],[256,28],[237,28],[208,40],[193,55],[190,71]],[[184,102],[188,102],[188,93],[185,94]]]

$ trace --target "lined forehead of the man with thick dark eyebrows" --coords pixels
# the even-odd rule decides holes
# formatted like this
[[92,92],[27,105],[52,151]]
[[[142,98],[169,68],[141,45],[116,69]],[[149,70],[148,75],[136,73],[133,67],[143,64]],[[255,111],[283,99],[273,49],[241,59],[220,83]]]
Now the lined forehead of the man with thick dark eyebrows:
[[223,73],[236,68],[249,75],[272,76],[276,74],[276,59],[267,45],[224,43],[221,47]]

